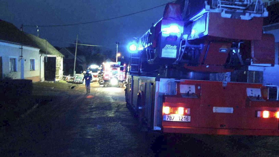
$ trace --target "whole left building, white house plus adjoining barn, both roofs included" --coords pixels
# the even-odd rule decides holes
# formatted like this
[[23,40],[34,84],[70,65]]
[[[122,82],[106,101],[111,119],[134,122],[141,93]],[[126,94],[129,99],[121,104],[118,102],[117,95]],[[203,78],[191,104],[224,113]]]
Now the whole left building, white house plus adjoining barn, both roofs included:
[[47,40],[0,20],[0,79],[62,79],[63,57]]

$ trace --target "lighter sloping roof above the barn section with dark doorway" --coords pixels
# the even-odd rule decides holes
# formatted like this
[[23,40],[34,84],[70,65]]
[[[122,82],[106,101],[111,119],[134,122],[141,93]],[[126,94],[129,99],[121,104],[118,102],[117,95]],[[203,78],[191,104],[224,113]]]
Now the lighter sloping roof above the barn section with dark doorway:
[[33,43],[35,43],[37,47],[40,48],[40,53],[64,57],[64,55],[60,53],[58,50],[56,50],[50,43],[48,43],[47,40],[41,39],[32,34],[28,34],[27,36],[31,39]]

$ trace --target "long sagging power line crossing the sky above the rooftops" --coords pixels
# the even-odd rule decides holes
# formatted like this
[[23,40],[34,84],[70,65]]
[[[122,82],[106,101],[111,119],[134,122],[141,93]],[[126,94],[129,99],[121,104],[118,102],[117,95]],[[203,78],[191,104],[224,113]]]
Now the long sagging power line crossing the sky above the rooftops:
[[[173,3],[173,2],[175,2],[175,1],[172,1],[172,2],[169,2],[169,3]],[[118,19],[118,18],[121,18],[121,17],[126,17],[126,16],[130,16],[130,15],[134,15],[134,14],[137,14],[137,13],[142,13],[144,11],[155,9],[155,8],[158,8],[158,7],[161,7],[161,6],[164,6],[164,5],[167,5],[167,3],[159,5],[157,7],[153,7],[153,8],[145,9],[145,10],[142,10],[142,11],[138,11],[138,12],[135,12],[135,13],[131,13],[131,14],[127,14],[127,15],[122,15],[122,16],[118,16],[118,17],[113,17],[113,18],[110,18],[110,19],[98,20],[98,21],[91,21],[91,22],[84,22],[84,23],[72,23],[72,24],[65,24],[65,25],[24,25],[24,26],[25,27],[60,27],[60,26],[83,25],[83,24],[88,24],[88,23],[96,23],[96,22],[102,22],[102,21],[109,21],[109,20],[113,20],[113,19]]]

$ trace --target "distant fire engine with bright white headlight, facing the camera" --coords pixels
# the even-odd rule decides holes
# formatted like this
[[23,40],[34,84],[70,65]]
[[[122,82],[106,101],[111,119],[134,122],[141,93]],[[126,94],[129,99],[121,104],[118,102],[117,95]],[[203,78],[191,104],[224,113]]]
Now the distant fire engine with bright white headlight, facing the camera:
[[107,62],[102,65],[102,79],[99,84],[106,86],[122,87],[126,80],[125,71],[126,64],[121,65],[120,62]]

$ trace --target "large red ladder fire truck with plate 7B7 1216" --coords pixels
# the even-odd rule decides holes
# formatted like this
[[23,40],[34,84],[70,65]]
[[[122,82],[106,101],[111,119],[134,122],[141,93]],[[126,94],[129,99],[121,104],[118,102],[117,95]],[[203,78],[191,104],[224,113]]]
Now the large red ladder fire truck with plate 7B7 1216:
[[140,124],[169,133],[278,136],[278,86],[250,83],[262,78],[253,69],[274,65],[274,36],[262,34],[267,16],[260,0],[166,5],[130,46],[125,97]]

